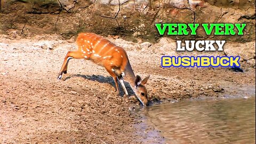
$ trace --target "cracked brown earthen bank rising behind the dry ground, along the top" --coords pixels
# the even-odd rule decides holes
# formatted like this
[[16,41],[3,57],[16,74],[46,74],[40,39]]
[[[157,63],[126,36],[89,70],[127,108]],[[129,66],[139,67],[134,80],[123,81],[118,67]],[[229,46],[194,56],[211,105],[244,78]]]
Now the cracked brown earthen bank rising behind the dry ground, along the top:
[[246,23],[243,36],[169,36],[174,39],[255,40],[255,0],[0,0],[0,34],[60,34],[80,31],[154,42],[155,23]]

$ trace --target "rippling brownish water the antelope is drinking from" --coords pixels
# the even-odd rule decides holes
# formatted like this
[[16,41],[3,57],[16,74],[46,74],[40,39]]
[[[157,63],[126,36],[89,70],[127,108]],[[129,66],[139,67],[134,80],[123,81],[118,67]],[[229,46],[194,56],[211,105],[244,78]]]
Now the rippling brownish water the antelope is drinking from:
[[255,97],[187,100],[141,112],[166,143],[255,143]]

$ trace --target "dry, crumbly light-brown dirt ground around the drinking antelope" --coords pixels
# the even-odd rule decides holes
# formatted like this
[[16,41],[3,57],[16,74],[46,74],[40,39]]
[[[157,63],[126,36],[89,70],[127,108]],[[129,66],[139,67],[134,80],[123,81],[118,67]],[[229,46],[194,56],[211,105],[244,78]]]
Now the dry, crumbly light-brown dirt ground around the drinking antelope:
[[[255,59],[242,63],[244,73],[229,68],[161,68],[162,55],[198,53],[177,53],[175,43],[166,38],[154,45],[108,39],[126,49],[135,74],[151,75],[151,103],[246,95],[243,87],[255,87]],[[246,45],[255,51],[255,43]],[[117,96],[105,68],[72,59],[68,73],[57,79],[67,51],[75,49],[74,39],[55,35],[0,36],[0,143],[135,143],[147,137],[135,132],[139,116],[130,109],[139,102]]]

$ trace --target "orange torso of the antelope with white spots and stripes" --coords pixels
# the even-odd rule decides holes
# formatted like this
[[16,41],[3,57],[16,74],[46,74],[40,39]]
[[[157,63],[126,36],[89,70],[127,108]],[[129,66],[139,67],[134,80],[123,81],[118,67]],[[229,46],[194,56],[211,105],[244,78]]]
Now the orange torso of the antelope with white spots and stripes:
[[[91,59],[104,67],[125,69],[127,54],[122,47],[92,33],[81,33],[77,37],[78,51],[85,59]],[[121,70],[121,71],[122,71]]]

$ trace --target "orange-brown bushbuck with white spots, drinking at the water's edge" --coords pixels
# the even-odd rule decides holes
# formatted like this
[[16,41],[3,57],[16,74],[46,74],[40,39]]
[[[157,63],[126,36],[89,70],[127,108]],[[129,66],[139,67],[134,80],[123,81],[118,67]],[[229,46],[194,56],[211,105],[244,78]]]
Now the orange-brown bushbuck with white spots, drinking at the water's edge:
[[79,34],[76,43],[78,49],[67,53],[59,72],[59,79],[61,79],[62,73],[67,73],[68,61],[70,59],[92,60],[94,63],[105,67],[113,77],[117,94],[119,94],[118,79],[125,94],[128,95],[123,80],[125,77],[142,105],[147,106],[148,91],[144,85],[147,83],[149,76],[141,80],[140,76],[134,75],[127,54],[122,47],[116,46],[107,39],[92,33]]

